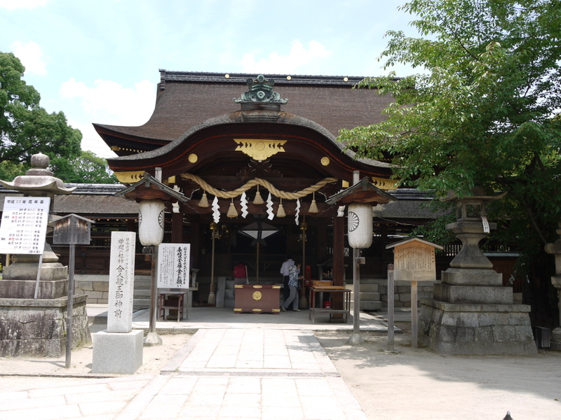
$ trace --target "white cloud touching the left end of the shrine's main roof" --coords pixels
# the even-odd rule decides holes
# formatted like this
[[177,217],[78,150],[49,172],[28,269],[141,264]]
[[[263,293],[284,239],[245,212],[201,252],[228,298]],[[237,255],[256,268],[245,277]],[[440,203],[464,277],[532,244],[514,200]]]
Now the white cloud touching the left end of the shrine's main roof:
[[62,83],[60,94],[78,98],[86,114],[104,124],[142,125],[154,111],[156,85],[148,80],[135,83],[134,89],[112,80],[95,80],[93,87],[74,78]]

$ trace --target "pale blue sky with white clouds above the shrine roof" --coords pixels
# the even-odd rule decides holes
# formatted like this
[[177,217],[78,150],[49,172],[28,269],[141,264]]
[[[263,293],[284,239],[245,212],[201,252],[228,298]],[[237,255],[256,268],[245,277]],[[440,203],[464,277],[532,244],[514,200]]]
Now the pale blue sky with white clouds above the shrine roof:
[[[379,76],[388,30],[410,36],[405,0],[0,0],[0,51],[26,67],[41,106],[82,148],[114,155],[91,123],[142,125],[158,69]],[[398,76],[412,70],[395,67]]]

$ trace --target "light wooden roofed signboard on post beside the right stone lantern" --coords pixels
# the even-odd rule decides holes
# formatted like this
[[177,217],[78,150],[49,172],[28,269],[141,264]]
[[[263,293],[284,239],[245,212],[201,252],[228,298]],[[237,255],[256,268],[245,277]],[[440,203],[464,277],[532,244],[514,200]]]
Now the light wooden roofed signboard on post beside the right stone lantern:
[[442,246],[432,244],[419,238],[405,239],[386,246],[393,248],[393,263],[396,280],[434,281],[436,279],[435,248]]

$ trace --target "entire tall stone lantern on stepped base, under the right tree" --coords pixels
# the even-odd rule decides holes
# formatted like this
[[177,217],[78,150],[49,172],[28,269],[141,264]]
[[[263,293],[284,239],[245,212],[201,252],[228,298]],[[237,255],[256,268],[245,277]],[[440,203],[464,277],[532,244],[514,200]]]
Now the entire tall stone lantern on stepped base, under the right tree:
[[485,204],[501,196],[473,195],[443,199],[457,203],[457,221],[446,226],[457,234],[462,248],[433,299],[421,299],[419,342],[441,354],[534,354],[537,352],[529,321],[530,307],[513,304],[513,291],[481,252],[479,242],[495,223],[488,223]]

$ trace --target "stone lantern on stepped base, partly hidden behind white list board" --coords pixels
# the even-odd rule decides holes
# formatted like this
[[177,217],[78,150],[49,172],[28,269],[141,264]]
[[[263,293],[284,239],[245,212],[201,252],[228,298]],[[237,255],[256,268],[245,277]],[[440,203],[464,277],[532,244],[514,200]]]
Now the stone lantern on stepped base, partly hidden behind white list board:
[[[36,197],[36,200],[48,197],[52,210],[55,195],[70,194],[74,190],[65,188],[62,181],[53,176],[47,169],[49,162],[48,156],[38,153],[32,156],[32,169],[25,175],[17,176],[13,182],[0,181],[6,188],[19,193],[21,201],[26,201],[22,203],[22,209],[29,205],[29,198],[24,197]],[[55,219],[50,214],[49,225]],[[33,232],[36,228],[27,221],[22,224],[25,233],[36,235]],[[5,238],[0,238],[0,242],[2,239]],[[8,246],[8,241],[4,243]],[[64,355],[68,267],[58,262],[48,244],[42,254],[16,252],[14,259],[15,262],[4,268],[0,280],[0,356]],[[72,346],[91,341],[86,299],[87,295],[73,297]]]

